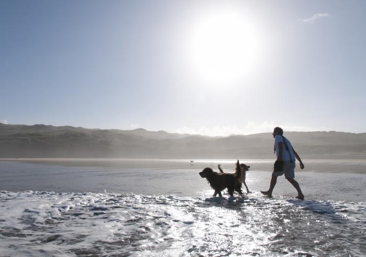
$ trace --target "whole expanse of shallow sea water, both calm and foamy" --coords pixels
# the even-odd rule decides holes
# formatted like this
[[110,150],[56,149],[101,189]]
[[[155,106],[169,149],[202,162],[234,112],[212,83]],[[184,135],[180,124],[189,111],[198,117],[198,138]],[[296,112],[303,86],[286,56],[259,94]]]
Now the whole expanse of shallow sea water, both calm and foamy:
[[[252,165],[223,198],[200,169],[0,162],[1,256],[362,256],[366,176],[296,172],[306,200]],[[228,169],[227,171],[230,171]]]

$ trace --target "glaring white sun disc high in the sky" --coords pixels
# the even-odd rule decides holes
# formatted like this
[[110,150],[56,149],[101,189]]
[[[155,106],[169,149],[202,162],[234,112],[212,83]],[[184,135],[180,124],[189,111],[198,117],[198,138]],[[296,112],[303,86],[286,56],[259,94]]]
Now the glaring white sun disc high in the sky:
[[191,42],[194,69],[206,79],[235,80],[255,66],[259,51],[253,24],[235,13],[203,19]]

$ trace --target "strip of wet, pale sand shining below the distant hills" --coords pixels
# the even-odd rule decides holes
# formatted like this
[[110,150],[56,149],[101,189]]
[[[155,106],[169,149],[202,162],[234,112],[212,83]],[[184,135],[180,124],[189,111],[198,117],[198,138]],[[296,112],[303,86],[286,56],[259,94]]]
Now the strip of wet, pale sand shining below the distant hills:
[[[51,164],[77,167],[113,167],[136,169],[185,169],[211,167],[218,171],[217,165],[221,164],[224,170],[233,172],[236,160],[233,159],[194,159],[193,163],[187,159],[71,159],[71,158],[0,158],[1,161],[26,162],[35,164]],[[251,166],[251,170],[271,171],[274,160],[250,159],[240,160]],[[366,160],[303,160],[304,171],[311,172],[350,172],[366,174]],[[301,171],[296,161],[297,171]]]

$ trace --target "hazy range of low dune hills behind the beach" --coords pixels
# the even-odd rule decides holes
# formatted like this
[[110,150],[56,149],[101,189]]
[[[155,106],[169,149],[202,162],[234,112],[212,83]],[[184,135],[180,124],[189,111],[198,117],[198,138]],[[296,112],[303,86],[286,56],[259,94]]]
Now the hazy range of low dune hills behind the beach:
[[[302,158],[366,159],[366,133],[285,132]],[[274,158],[272,133],[207,137],[145,129],[0,123],[0,158]]]

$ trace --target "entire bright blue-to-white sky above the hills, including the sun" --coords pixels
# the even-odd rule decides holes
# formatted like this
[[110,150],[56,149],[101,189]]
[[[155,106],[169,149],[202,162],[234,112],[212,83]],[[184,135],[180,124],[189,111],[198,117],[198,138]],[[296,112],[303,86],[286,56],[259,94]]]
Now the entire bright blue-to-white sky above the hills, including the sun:
[[366,132],[366,1],[0,1],[0,122]]

